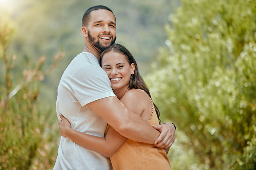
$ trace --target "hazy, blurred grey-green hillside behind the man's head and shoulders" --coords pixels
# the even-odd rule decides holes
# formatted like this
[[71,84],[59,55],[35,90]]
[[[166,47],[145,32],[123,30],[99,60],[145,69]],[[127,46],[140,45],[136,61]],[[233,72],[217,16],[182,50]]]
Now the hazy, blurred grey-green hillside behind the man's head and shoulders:
[[[125,45],[138,60],[141,74],[150,71],[148,64],[155,60],[158,47],[164,45],[164,24],[167,16],[178,5],[179,0],[148,1],[15,1],[11,17],[15,21],[17,34],[9,52],[18,57],[14,61],[14,72],[20,73],[23,56],[36,61],[35,56],[54,56],[60,49],[66,57],[62,64],[46,76],[42,84],[42,99],[55,103],[56,89],[61,75],[70,61],[83,50],[80,34],[83,13],[95,5],[110,7],[116,15],[117,43]],[[15,3],[14,3],[15,1]],[[0,13],[2,7],[0,5]],[[1,15],[1,14],[0,14]],[[143,50],[141,50],[143,49]],[[29,53],[27,53],[29,52]],[[27,56],[29,55],[29,56]],[[45,65],[52,59],[47,58]],[[0,70],[1,72],[1,70]]]

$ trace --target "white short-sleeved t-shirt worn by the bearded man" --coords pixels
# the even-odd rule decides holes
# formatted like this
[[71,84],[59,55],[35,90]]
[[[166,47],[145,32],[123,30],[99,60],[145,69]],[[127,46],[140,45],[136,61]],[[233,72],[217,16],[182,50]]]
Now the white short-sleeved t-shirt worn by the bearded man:
[[[106,72],[91,53],[78,54],[64,71],[56,103],[57,116],[63,114],[71,127],[83,133],[104,137],[107,122],[87,104],[115,96]],[[60,118],[59,118],[60,119]],[[53,169],[112,169],[110,158],[61,136]]]

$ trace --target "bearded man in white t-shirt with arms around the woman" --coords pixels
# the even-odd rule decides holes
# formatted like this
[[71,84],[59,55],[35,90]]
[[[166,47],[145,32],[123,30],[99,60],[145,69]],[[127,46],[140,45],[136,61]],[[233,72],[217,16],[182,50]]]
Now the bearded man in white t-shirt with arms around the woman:
[[[135,141],[170,147],[175,139],[172,124],[159,125],[160,132],[130,112],[115,96],[110,80],[100,67],[100,53],[116,40],[116,20],[105,6],[95,6],[83,15],[81,34],[85,47],[64,71],[56,103],[75,130],[104,137],[107,122],[120,134]],[[164,135],[168,132],[168,135]],[[173,137],[169,137],[173,134]],[[159,136],[159,137],[158,137]],[[155,140],[157,139],[157,140]],[[162,141],[161,141],[162,140]],[[111,169],[110,159],[61,136],[54,169]]]

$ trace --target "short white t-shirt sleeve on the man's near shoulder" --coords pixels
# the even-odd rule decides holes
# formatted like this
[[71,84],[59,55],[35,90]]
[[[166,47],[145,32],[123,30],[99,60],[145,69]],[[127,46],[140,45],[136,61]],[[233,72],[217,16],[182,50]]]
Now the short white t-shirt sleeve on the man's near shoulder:
[[95,65],[79,69],[68,85],[81,106],[105,97],[115,96],[107,73]]

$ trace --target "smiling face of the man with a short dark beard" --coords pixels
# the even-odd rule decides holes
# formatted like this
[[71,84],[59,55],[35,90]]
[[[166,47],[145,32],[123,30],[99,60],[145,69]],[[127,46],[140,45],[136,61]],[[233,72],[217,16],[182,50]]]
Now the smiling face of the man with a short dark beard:
[[115,16],[108,10],[91,12],[88,24],[88,41],[99,50],[105,50],[116,41]]

